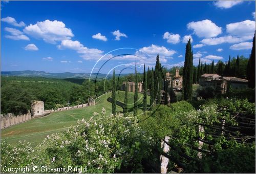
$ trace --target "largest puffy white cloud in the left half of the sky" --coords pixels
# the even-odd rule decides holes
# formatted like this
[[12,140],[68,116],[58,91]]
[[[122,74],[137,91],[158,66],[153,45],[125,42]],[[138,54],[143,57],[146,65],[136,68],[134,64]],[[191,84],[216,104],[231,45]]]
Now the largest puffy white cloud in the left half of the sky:
[[72,30],[66,28],[62,21],[51,21],[48,19],[37,22],[34,25],[30,24],[23,31],[35,38],[41,38],[50,44],[56,44],[56,41],[67,40],[74,36]]

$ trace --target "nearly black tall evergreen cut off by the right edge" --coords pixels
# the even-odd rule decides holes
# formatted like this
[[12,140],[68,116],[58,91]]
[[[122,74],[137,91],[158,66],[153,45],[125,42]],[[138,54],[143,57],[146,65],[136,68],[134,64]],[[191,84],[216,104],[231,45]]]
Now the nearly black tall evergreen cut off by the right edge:
[[252,41],[251,56],[248,63],[248,87],[255,88],[255,32]]

